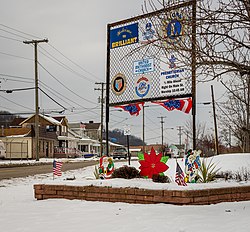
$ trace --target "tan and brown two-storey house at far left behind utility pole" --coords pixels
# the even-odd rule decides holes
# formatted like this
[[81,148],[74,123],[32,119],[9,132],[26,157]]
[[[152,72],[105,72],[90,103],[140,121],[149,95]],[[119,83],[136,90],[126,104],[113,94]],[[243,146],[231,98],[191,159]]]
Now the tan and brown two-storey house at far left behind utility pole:
[[[6,145],[6,158],[35,159],[35,115],[15,118],[9,128],[2,129],[1,139]],[[39,115],[39,158],[54,158],[55,148],[67,147],[68,121],[66,117]],[[70,143],[71,145],[71,143]],[[75,146],[76,148],[77,146]],[[66,157],[68,153],[60,154]]]

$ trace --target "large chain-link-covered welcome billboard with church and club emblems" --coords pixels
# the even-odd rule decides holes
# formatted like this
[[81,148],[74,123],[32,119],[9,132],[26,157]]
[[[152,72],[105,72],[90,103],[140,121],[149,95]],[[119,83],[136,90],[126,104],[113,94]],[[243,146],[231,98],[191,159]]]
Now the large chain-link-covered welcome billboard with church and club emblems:
[[192,1],[109,24],[109,105],[192,96]]

